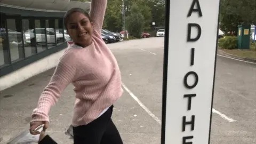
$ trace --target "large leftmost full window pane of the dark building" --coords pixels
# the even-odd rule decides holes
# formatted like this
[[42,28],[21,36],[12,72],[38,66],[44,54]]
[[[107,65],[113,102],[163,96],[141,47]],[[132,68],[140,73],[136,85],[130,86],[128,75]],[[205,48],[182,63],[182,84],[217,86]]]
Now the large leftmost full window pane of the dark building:
[[9,49],[11,61],[18,61],[25,57],[22,44],[22,28],[18,19],[7,19]]

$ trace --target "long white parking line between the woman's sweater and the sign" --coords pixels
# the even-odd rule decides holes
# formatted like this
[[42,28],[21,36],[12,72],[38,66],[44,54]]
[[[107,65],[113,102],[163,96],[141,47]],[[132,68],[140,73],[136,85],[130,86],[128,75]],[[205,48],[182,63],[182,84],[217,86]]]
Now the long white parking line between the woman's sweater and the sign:
[[124,89],[131,95],[131,97],[139,103],[139,105],[153,118],[158,124],[162,124],[161,120],[158,119],[143,103],[124,85],[122,84]]

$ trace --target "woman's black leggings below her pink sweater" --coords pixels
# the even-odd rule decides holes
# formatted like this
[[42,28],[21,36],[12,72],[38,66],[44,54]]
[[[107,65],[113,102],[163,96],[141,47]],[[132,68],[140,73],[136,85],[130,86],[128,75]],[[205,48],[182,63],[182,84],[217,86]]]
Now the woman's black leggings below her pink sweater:
[[[74,144],[123,144],[121,136],[111,119],[113,106],[87,125],[73,127]],[[39,144],[57,144],[46,135]]]

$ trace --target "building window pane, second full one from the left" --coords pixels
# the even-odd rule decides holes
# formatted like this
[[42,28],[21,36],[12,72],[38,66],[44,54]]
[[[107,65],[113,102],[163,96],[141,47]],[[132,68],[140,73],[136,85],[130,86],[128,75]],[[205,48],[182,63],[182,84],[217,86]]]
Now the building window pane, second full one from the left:
[[36,38],[35,38],[35,21],[32,19],[23,19],[23,37],[24,37],[24,49],[25,57],[30,57],[36,54]]

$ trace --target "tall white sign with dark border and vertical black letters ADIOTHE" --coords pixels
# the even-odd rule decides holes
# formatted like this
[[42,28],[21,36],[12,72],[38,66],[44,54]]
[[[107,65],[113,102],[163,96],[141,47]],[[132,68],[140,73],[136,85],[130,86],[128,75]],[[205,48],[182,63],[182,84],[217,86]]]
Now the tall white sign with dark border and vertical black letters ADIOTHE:
[[220,0],[166,3],[161,143],[210,143]]

